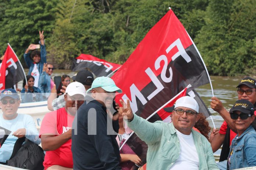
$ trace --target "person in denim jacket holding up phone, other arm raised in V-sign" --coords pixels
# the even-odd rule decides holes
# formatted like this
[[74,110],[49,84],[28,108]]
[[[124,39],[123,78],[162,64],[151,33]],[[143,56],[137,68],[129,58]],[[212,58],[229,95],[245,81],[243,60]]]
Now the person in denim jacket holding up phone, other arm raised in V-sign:
[[[35,78],[35,87],[39,87],[39,78],[43,71],[43,63],[46,63],[45,36],[39,31],[39,44],[30,44],[24,53],[24,59],[29,67],[28,75]],[[40,51],[36,50],[40,48]],[[30,51],[31,54],[30,54]]]

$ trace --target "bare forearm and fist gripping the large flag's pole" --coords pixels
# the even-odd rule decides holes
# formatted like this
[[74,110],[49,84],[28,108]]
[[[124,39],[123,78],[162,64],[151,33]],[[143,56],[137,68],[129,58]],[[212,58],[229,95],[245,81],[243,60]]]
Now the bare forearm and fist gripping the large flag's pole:
[[230,113],[223,107],[222,102],[217,97],[211,97],[210,105],[211,108],[214,111],[218,112],[221,117],[227,122],[230,129],[237,133],[237,129],[235,128],[235,125],[230,117]]

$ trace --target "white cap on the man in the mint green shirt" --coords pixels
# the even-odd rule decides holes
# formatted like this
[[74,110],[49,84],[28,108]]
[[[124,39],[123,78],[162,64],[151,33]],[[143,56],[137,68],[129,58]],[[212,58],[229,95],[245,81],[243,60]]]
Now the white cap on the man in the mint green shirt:
[[198,103],[196,102],[196,100],[193,97],[190,97],[190,96],[183,96],[183,97],[179,98],[176,101],[174,108],[177,108],[177,107],[187,107],[192,110],[195,110],[197,113],[199,112]]

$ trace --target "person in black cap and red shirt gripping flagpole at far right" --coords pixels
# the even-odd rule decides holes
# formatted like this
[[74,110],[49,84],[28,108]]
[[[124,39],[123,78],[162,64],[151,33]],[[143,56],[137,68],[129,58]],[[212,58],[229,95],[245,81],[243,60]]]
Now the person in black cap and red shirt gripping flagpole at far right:
[[[243,78],[237,86],[238,100],[249,100],[254,107],[256,107],[256,80],[251,77]],[[220,162],[217,163],[218,167],[222,169],[227,168],[227,158],[230,151],[230,145],[232,139],[237,135],[237,129],[230,118],[229,112],[223,107],[223,104],[217,97],[211,98],[211,108],[218,112],[224,119],[223,124],[220,127],[220,131],[214,139],[211,141],[211,147],[213,152],[216,152],[221,145]]]

